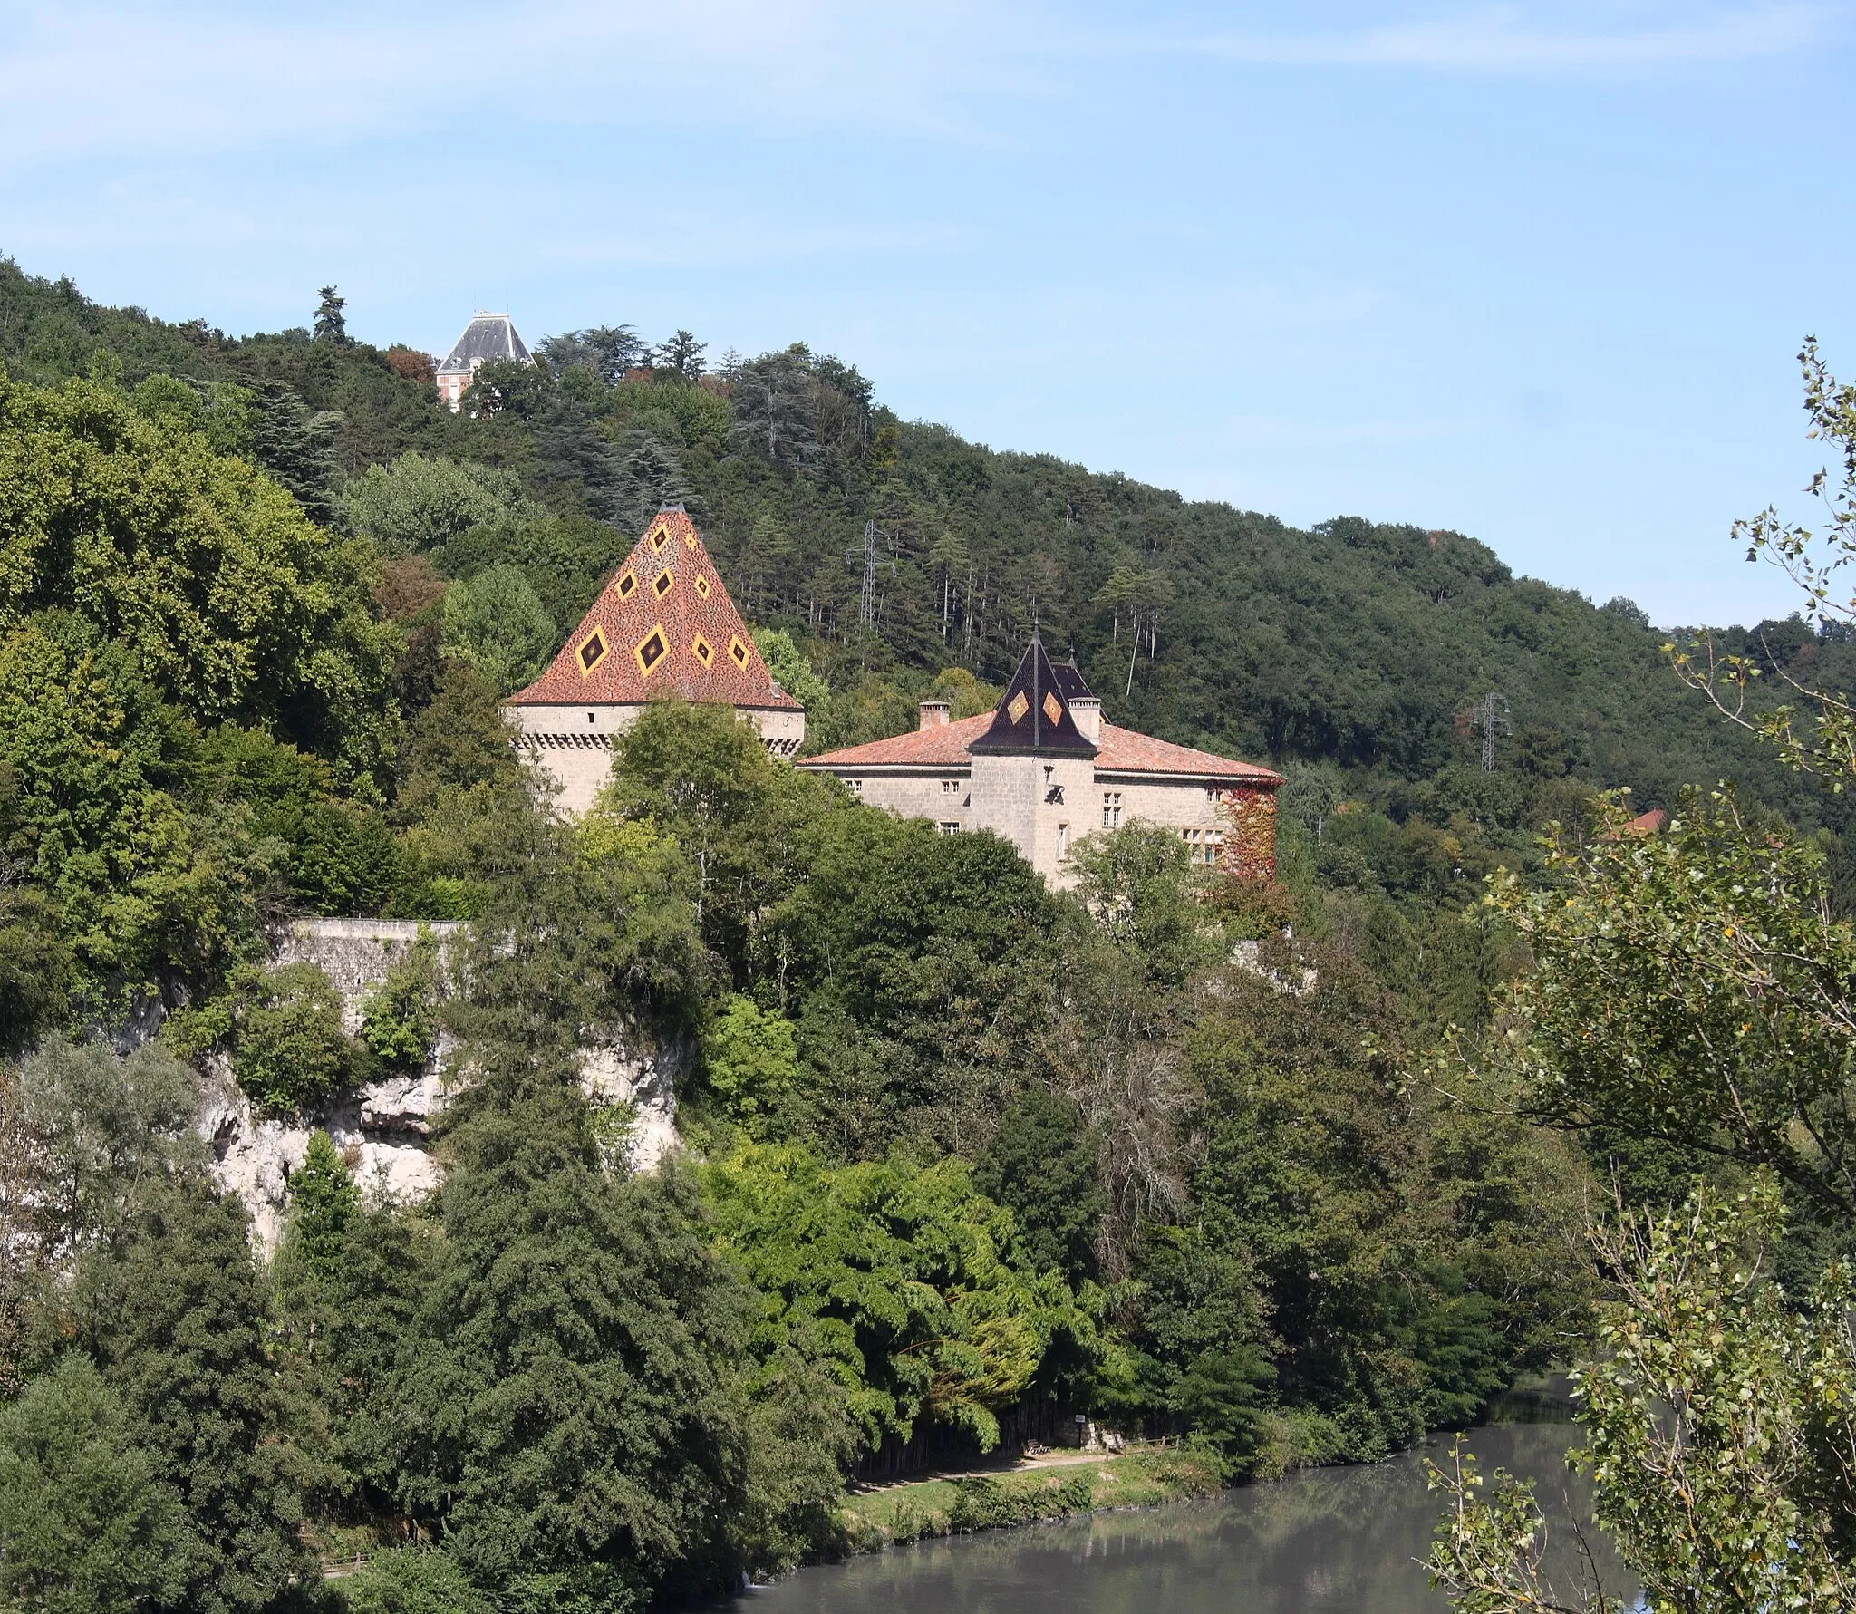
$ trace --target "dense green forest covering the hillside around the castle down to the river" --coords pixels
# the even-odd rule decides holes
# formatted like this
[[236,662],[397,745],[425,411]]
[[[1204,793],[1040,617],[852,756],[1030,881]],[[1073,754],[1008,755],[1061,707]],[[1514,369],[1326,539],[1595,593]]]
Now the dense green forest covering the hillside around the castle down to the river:
[[[360,1553],[354,1608],[642,1607],[833,1551],[872,1467],[1078,1412],[1229,1479],[1372,1460],[1579,1352],[1581,1195],[1680,1171],[1424,1080],[1529,961],[1485,877],[1732,777],[1845,905],[1843,798],[1683,688],[1685,631],[993,453],[804,345],[536,352],[449,414],[332,289],[226,338],[0,263],[0,1592],[256,1610]],[[986,709],[1036,621],[1112,720],[1284,768],[1279,877],[1130,826],[1052,894],[676,705],[551,816],[497,701],[664,501],[811,748]],[[349,1037],[269,965],[293,915],[471,926]],[[581,1089],[612,1024],[694,1050],[659,1171]],[[314,1115],[440,1031],[444,1187],[321,1137],[254,1258],[206,1061]]]

